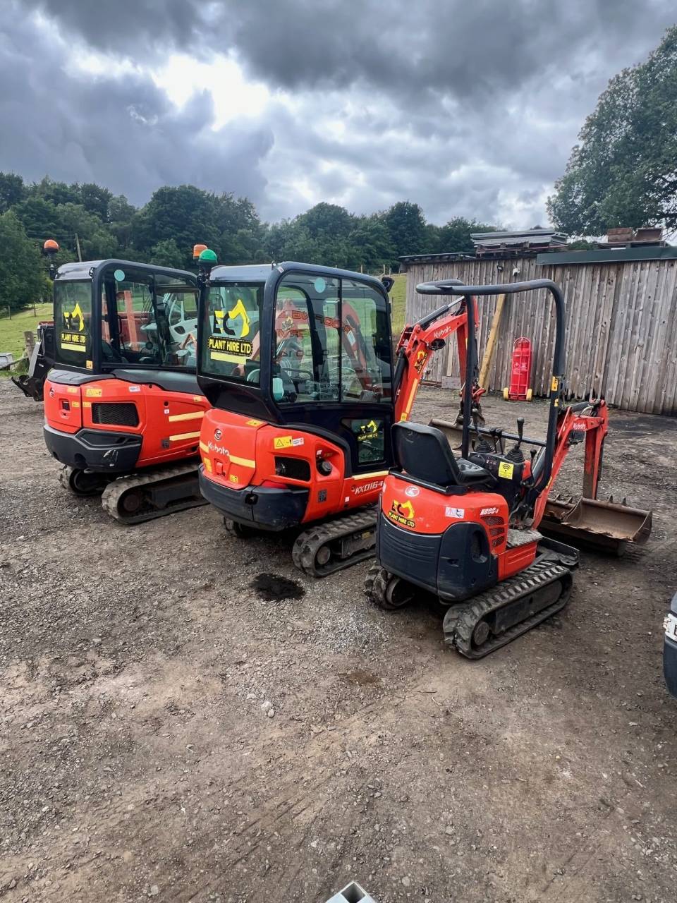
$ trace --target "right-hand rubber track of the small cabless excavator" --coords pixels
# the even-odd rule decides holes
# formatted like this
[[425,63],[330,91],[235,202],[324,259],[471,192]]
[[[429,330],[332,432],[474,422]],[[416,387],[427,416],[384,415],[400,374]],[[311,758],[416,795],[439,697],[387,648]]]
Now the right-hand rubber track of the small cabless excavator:
[[[543,590],[549,584],[557,581],[562,583],[562,592],[558,600],[536,612],[531,618],[524,619],[514,627],[508,628],[504,633],[487,639],[487,642],[483,643],[480,648],[472,647],[472,635],[478,621],[486,618],[493,611],[502,609],[534,591]],[[570,568],[565,565],[547,560],[534,562],[522,573],[497,584],[491,590],[479,593],[466,604],[454,605],[444,619],[444,639],[466,658],[484,658],[563,609],[569,601],[572,582]]]

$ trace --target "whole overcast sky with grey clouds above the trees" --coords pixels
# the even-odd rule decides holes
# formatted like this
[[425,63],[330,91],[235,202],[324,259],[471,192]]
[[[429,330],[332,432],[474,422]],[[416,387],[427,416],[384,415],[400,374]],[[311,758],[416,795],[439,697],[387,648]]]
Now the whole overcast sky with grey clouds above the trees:
[[545,224],[674,0],[0,0],[0,170]]

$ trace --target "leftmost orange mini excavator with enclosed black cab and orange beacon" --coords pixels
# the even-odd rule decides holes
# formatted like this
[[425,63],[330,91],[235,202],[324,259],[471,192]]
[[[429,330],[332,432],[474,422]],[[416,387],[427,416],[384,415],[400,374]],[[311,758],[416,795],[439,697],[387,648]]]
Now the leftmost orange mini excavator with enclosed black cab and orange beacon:
[[102,495],[124,524],[204,503],[197,295],[189,272],[126,260],[54,273],[45,442],[65,465],[61,481],[76,495]]

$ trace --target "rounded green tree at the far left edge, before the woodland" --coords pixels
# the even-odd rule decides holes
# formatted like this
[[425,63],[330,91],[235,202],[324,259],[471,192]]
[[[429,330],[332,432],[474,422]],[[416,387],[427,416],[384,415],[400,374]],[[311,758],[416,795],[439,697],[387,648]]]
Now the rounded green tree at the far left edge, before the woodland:
[[0,309],[19,311],[40,299],[43,264],[13,210],[0,215]]

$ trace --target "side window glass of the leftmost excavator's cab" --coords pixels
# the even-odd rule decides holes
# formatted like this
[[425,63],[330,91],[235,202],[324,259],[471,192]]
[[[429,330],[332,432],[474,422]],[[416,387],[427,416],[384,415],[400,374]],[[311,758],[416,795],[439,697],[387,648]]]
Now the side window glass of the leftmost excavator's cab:
[[101,306],[104,364],[194,370],[197,288],[178,278],[116,269]]

